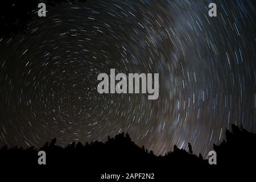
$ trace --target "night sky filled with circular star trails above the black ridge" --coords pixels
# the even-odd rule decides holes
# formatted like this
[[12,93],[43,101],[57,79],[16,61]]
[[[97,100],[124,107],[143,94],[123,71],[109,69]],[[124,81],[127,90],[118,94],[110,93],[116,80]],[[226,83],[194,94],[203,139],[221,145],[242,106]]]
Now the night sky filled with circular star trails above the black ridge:
[[[210,2],[217,17],[208,15]],[[0,38],[0,146],[65,146],[127,132],[206,156],[232,123],[256,132],[255,1],[87,1],[47,6]],[[159,98],[99,94],[97,76],[159,73]]]

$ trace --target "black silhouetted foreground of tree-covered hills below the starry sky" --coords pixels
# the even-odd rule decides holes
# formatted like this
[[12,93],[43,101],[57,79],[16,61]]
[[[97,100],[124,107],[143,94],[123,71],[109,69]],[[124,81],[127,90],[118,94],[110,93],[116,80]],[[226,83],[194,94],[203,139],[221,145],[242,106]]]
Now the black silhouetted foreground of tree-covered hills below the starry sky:
[[[59,179],[73,179],[79,173],[83,176],[82,181],[170,181],[174,176],[181,179],[197,179],[202,174],[217,177],[227,174],[228,169],[240,171],[256,162],[256,135],[234,125],[232,131],[226,130],[226,140],[213,146],[217,154],[216,165],[193,154],[191,147],[185,151],[175,146],[168,154],[155,156],[123,133],[105,143],[96,141],[83,145],[73,142],[64,148],[55,143],[56,139],[53,139],[39,150],[3,146],[0,150],[1,169],[41,177],[51,173]],[[38,151],[46,152],[46,165],[38,164]]]

